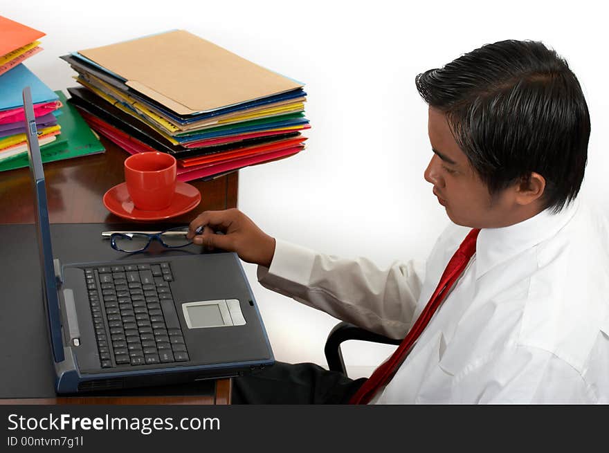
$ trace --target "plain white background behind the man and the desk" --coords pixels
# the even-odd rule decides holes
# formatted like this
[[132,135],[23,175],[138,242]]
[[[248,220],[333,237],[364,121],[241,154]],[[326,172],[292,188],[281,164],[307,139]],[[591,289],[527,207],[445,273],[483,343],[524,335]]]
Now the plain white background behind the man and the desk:
[[[534,39],[567,58],[592,118],[583,192],[608,199],[609,32],[599,5],[0,0],[0,15],[46,33],[44,51],[26,65],[54,90],[75,84],[60,55],[175,28],[304,82],[307,149],[242,170],[239,208],[275,237],[388,266],[424,260],[448,222],[423,179],[431,151],[415,75],[482,44]],[[276,358],[325,366],[323,344],[336,320],[262,288],[255,267],[246,270]],[[345,361],[357,367],[356,376],[388,351],[347,344]]]

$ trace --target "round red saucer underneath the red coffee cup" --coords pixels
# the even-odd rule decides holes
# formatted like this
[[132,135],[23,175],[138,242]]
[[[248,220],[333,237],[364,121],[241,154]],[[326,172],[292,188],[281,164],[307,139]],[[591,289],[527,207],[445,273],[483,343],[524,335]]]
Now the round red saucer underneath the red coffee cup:
[[115,185],[104,194],[104,206],[119,217],[131,220],[163,220],[179,216],[196,207],[201,201],[201,192],[190,184],[178,181],[176,184],[176,194],[172,204],[160,211],[138,210],[129,192],[127,184]]

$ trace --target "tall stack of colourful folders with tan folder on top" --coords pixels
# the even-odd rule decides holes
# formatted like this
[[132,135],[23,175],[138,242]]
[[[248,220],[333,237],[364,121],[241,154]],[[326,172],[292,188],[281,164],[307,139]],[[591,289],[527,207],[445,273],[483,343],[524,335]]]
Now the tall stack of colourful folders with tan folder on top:
[[61,57],[69,102],[130,154],[163,151],[179,181],[214,178],[304,149],[302,84],[184,30]]

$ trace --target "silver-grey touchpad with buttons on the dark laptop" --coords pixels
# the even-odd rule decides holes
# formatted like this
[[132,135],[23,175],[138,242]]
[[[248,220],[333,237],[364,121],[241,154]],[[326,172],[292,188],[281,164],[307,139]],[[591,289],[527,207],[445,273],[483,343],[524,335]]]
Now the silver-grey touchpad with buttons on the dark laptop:
[[242,326],[246,324],[237,299],[185,302],[182,311],[188,329]]

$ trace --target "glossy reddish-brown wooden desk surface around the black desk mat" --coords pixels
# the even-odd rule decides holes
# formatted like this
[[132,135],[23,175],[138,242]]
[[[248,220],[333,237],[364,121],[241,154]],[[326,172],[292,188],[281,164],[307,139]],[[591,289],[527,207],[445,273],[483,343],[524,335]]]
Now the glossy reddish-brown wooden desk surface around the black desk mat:
[[[125,181],[122,163],[128,154],[102,137],[104,154],[85,156],[44,165],[51,223],[125,223],[111,214],[102,196]],[[194,210],[168,222],[188,223],[204,210],[224,210],[237,206],[238,174],[213,181],[194,181],[201,203]],[[34,223],[34,194],[28,168],[0,173],[0,223]],[[143,397],[60,397],[0,400],[0,404],[229,404],[230,380],[217,380],[215,395]]]

